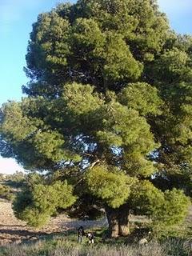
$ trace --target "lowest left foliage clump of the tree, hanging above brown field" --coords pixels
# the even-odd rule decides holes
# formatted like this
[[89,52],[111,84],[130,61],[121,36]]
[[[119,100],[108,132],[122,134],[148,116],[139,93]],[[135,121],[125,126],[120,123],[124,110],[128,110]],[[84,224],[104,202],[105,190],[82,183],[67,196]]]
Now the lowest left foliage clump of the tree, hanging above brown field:
[[58,181],[53,185],[36,183],[27,186],[15,198],[14,213],[30,226],[41,227],[48,222],[50,216],[56,214],[58,208],[66,209],[76,199],[73,187],[66,181]]

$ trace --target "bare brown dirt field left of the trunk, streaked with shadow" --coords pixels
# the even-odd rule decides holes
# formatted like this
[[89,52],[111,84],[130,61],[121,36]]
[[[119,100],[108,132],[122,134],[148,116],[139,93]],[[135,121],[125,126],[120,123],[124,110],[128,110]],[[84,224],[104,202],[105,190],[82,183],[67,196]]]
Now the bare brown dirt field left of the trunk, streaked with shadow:
[[14,217],[10,202],[0,202],[0,246],[11,242],[20,243],[27,240],[35,240],[48,234],[59,234],[66,230],[77,230],[78,226],[93,228],[105,226],[106,219],[102,221],[78,221],[60,215],[51,218],[50,223],[42,230],[34,230]]

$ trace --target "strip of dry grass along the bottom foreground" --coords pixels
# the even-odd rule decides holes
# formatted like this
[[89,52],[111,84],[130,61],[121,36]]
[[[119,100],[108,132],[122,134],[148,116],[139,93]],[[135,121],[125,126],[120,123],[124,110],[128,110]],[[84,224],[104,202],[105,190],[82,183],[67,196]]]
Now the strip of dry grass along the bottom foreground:
[[76,237],[55,237],[21,245],[9,245],[0,249],[1,256],[191,256],[192,241],[183,242],[178,239],[159,243],[150,242],[146,246],[94,244],[86,242],[78,244]]

